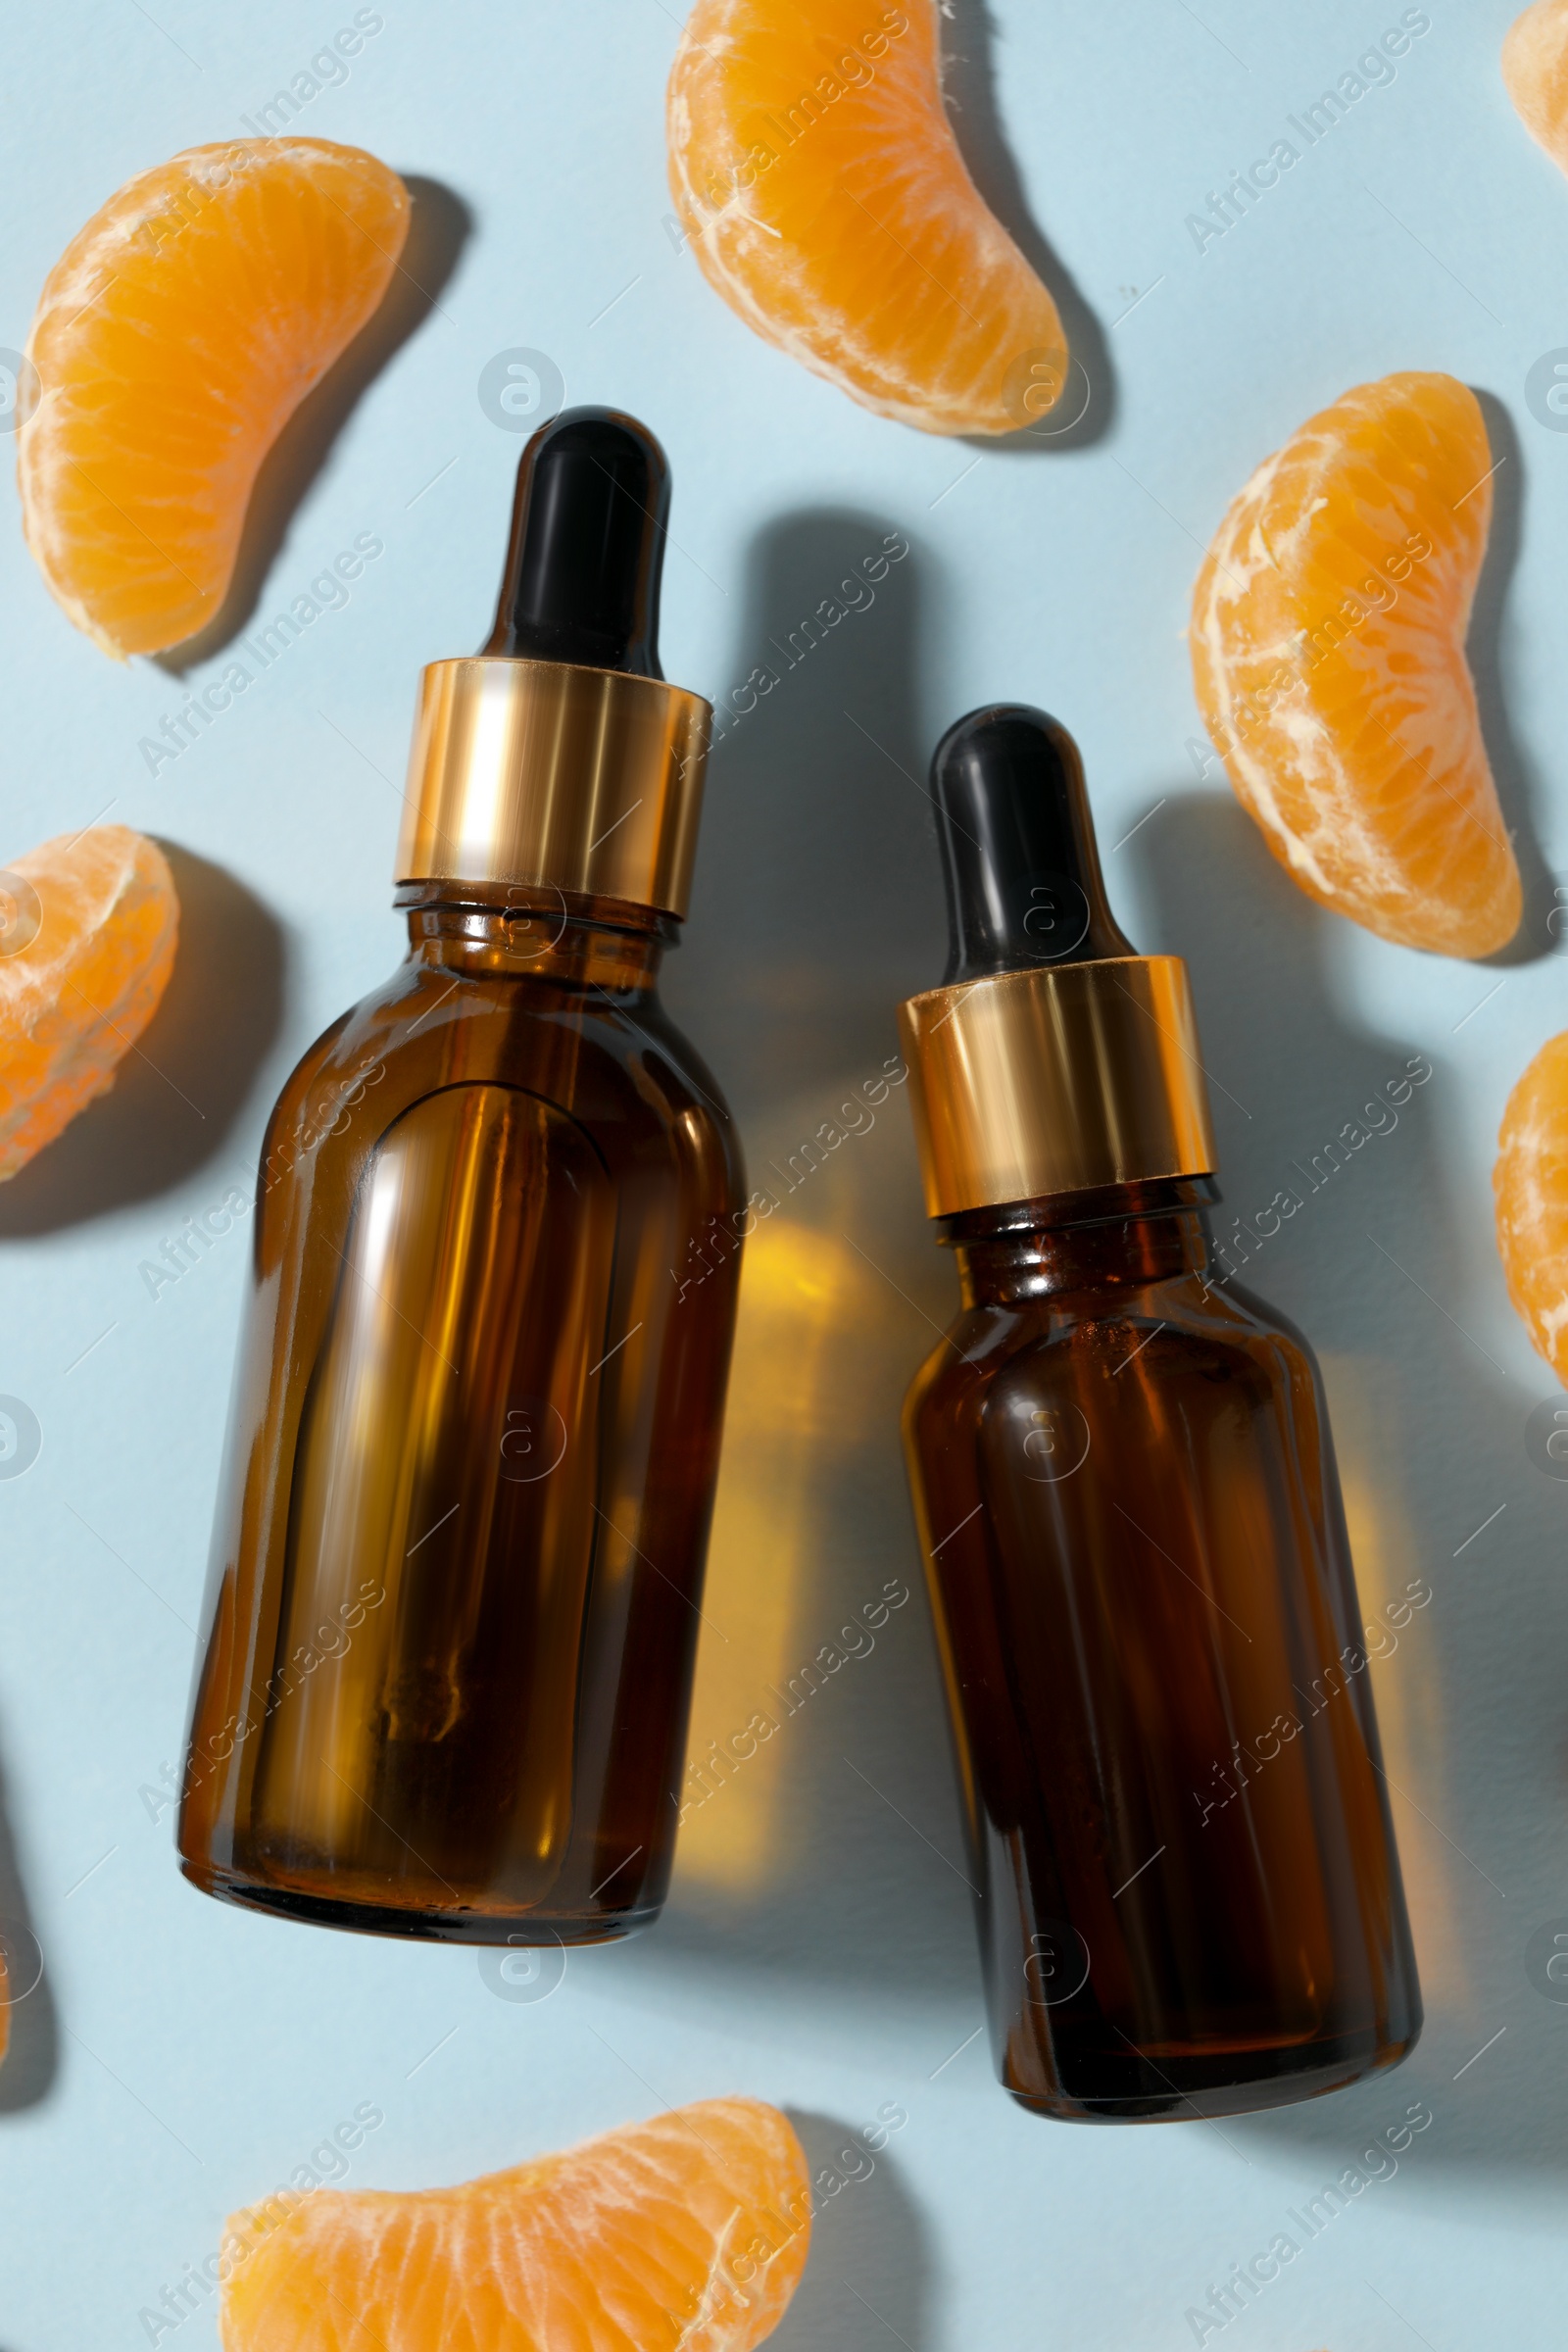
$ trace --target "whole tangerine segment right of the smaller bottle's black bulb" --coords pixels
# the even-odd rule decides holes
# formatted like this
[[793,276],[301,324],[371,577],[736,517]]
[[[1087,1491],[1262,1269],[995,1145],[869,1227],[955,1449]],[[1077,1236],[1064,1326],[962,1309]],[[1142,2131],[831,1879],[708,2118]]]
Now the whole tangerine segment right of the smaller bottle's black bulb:
[[1361,383],[1265,459],[1192,597],[1197,701],[1274,856],[1441,955],[1490,955],[1521,915],[1465,661],[1490,470],[1467,386]]

